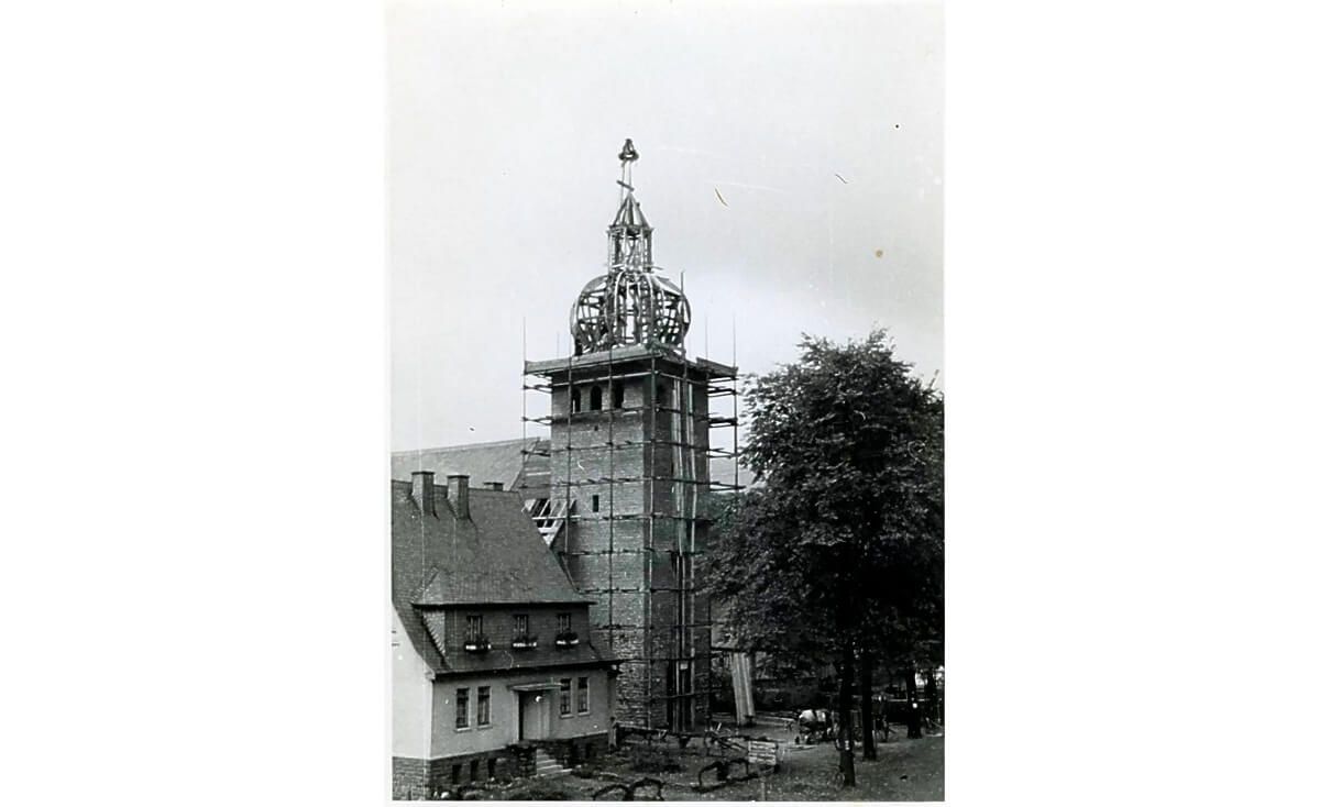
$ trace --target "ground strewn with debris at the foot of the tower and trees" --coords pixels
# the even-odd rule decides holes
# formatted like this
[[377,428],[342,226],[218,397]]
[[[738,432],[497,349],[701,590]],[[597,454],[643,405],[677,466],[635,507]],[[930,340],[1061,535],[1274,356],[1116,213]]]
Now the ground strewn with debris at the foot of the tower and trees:
[[[837,754],[833,743],[795,745],[793,733],[775,723],[759,726],[748,734],[761,734],[781,741],[780,771],[763,779],[739,782],[711,792],[697,792],[692,788],[692,784],[697,782],[697,770],[715,760],[716,756],[708,758],[695,752],[679,755],[671,749],[673,743],[656,743],[659,755],[677,756],[684,770],[679,772],[635,771],[631,763],[634,752],[622,750],[596,764],[595,771],[584,768],[580,775],[543,779],[503,791],[490,791],[486,795],[496,799],[522,799],[524,796],[550,799],[559,798],[556,794],[560,794],[566,799],[590,800],[596,790],[616,780],[627,783],[643,776],[654,776],[666,783],[662,796],[671,802],[942,800],[944,738],[941,734],[926,735],[924,739],[905,739],[905,727],[894,726],[888,742],[878,743],[877,760],[865,762],[860,758],[857,749],[855,760],[857,787],[855,788],[839,786]],[[642,756],[642,752],[638,755]],[[735,771],[735,775],[741,774],[743,767]],[[712,780],[709,774],[708,782]],[[639,791],[639,799],[648,795],[655,795],[655,788]],[[603,796],[603,799],[606,798],[619,800],[622,796],[614,794]]]

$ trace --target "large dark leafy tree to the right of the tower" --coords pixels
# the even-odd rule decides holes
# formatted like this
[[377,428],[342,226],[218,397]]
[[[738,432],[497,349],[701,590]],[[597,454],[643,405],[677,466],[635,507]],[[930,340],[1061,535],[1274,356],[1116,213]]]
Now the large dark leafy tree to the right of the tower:
[[836,663],[853,787],[856,661],[864,683],[876,653],[941,639],[942,395],[882,331],[800,350],[745,390],[757,484],[716,530],[708,577],[741,641]]

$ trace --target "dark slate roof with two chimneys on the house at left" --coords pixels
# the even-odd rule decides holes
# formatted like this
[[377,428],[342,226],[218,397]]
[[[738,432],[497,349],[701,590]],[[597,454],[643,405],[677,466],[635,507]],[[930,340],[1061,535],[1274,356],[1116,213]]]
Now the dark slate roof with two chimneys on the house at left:
[[[523,512],[523,495],[469,489],[471,517],[454,515],[445,485],[435,485],[435,513],[422,513],[411,483],[391,483],[393,608],[411,645],[435,673],[506,669],[503,653],[449,657],[431,634],[442,635],[438,609],[450,605],[587,604],[540,532]],[[555,649],[551,649],[554,651]],[[591,647],[524,651],[508,667],[600,659]],[[548,655],[548,658],[547,658]]]

